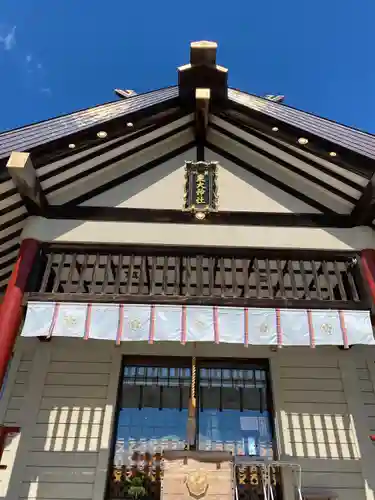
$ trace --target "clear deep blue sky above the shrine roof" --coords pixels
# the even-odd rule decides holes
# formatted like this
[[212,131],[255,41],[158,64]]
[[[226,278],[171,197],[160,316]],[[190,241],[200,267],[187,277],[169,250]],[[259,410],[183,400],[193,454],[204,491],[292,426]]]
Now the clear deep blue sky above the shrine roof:
[[215,40],[229,83],[375,133],[374,0],[1,0],[0,130],[177,81]]

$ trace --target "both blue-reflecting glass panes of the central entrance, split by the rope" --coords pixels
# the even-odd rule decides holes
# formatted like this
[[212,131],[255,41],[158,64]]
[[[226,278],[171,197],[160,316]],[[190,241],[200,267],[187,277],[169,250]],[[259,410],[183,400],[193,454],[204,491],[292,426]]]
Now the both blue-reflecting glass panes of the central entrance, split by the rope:
[[[273,456],[267,371],[198,365],[196,447],[235,455]],[[187,446],[191,368],[125,366],[114,466],[135,452]]]

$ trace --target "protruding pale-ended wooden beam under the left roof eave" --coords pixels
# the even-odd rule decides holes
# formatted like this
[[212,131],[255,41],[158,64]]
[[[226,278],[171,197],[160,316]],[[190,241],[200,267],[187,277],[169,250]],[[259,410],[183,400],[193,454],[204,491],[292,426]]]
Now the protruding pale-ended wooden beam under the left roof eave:
[[13,151],[7,163],[9,175],[29,213],[41,215],[48,206],[29,153]]

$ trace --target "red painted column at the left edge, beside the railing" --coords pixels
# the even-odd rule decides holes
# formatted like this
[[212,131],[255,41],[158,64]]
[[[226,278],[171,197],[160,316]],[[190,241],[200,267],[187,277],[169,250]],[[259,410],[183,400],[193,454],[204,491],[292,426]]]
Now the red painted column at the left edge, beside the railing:
[[0,386],[3,383],[18,330],[22,321],[22,299],[27,279],[39,248],[33,239],[23,240],[17,262],[4,295],[0,310]]

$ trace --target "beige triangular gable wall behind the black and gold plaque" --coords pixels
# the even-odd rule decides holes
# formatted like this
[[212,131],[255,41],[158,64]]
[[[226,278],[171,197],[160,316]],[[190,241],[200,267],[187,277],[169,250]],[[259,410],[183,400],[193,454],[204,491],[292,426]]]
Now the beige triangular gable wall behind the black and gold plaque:
[[[152,157],[151,157],[152,158]],[[195,160],[191,150],[166,161],[150,172],[123,182],[83,203],[86,206],[169,208],[181,210],[185,184],[185,161]],[[219,211],[317,213],[311,206],[285,193],[206,148],[207,161],[217,165]],[[130,162],[130,160],[127,160]],[[124,170],[138,166],[132,161]]]

